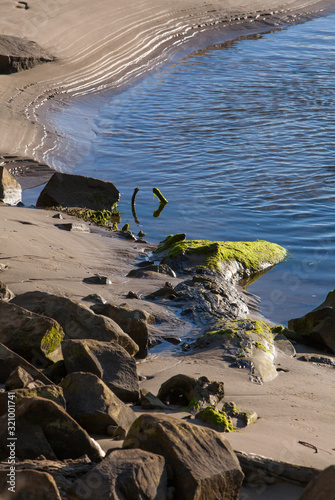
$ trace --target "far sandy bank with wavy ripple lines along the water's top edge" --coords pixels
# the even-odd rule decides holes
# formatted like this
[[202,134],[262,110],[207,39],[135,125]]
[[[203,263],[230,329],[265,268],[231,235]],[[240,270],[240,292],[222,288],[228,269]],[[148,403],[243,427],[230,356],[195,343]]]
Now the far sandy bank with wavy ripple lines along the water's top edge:
[[[176,0],[155,4],[144,0],[124,15],[120,1],[102,0],[93,9],[87,1],[55,6],[52,0],[37,0],[28,10],[15,9],[6,1],[0,7],[0,33],[34,39],[56,61],[0,76],[0,162],[9,157],[5,163],[14,176],[28,185],[34,184],[32,177],[41,176],[36,184],[40,185],[50,176],[48,167],[54,168],[58,150],[67,145],[49,119],[50,109],[79,96],[117,90],[187,47],[211,44],[218,34],[222,42],[234,40],[304,22],[332,9],[325,0],[308,4],[259,0],[252,10],[241,0],[224,8],[218,1],[207,5],[184,0],[180,5]],[[80,23],[69,33],[63,23],[77,21],[79,15]],[[87,28],[84,35],[81,26]]]

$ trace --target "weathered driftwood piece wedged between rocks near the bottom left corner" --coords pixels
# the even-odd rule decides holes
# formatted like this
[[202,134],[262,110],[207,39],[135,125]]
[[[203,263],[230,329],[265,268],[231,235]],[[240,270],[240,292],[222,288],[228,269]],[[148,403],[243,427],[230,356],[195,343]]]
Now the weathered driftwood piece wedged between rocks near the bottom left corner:
[[[16,470],[37,470],[48,472],[56,481],[61,494],[71,486],[71,484],[81,476],[90,471],[96,464],[91,462],[87,455],[77,460],[24,460],[15,463]],[[9,470],[7,462],[0,462],[0,469]]]

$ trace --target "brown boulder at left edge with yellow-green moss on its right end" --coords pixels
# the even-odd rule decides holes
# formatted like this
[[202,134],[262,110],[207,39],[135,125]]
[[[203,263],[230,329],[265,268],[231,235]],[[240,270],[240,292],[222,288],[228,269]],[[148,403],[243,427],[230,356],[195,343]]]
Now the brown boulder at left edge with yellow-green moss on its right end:
[[31,363],[39,356],[46,366],[61,357],[60,343],[64,338],[61,326],[15,305],[0,302],[0,341]]

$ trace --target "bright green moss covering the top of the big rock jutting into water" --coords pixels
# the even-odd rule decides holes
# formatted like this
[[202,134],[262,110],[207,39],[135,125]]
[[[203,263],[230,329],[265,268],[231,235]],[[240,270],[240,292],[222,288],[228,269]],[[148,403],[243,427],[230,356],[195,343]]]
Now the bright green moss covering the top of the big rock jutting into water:
[[266,265],[275,265],[285,259],[287,250],[268,241],[208,241],[186,240],[184,235],[170,235],[157,248],[156,253],[168,250],[164,260],[184,255],[203,257],[210,269],[220,268],[222,262],[239,262],[245,269],[256,273]]

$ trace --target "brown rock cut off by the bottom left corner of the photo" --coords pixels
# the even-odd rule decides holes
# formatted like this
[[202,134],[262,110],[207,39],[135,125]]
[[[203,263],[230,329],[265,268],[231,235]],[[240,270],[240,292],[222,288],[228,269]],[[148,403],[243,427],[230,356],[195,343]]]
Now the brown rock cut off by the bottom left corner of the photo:
[[61,500],[55,480],[47,472],[13,470],[11,476],[8,474],[8,470],[0,470],[2,500]]

